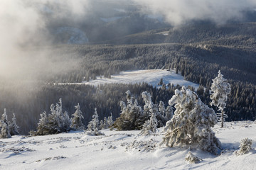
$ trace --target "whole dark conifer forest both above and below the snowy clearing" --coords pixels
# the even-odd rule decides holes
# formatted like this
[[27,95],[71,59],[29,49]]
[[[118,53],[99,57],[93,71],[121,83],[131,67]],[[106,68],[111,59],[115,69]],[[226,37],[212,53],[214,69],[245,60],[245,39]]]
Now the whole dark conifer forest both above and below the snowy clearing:
[[[252,28],[246,24],[240,27]],[[134,42],[130,38],[129,43],[124,42],[127,44],[123,45],[40,47],[41,50],[50,48],[54,54],[51,56],[53,62],[70,59],[79,62],[68,72],[40,75],[40,79],[30,82],[33,84],[30,86],[26,86],[26,82],[17,81],[6,88],[5,84],[2,83],[0,87],[0,111],[3,112],[6,108],[9,119],[11,119],[12,113],[16,113],[16,122],[21,127],[21,134],[28,134],[30,130],[36,129],[40,113],[48,112],[50,104],[57,103],[59,98],[63,100],[63,110],[68,111],[69,115],[75,113],[75,106],[80,103],[80,109],[85,118],[83,123],[87,125],[92,119],[95,108],[97,108],[100,120],[109,116],[110,113],[112,113],[114,120],[118,118],[121,110],[119,101],[125,101],[125,91],[127,90],[131,91],[132,96],[138,100],[140,106],[144,105],[141,94],[143,91],[147,91],[151,94],[154,103],[159,104],[159,101],[164,101],[166,107],[174,94],[174,90],[181,88],[181,86],[166,84],[157,89],[144,83],[133,85],[106,84],[97,87],[85,84],[68,84],[90,81],[97,79],[97,76],[111,79],[112,74],[134,69],[174,69],[184,79],[200,84],[196,92],[203,103],[209,105],[210,84],[220,70],[231,85],[231,93],[225,108],[225,113],[228,115],[226,121],[255,120],[255,36],[249,35],[247,32],[245,35],[238,35],[235,32],[225,34],[223,30],[215,29],[216,32],[209,30],[215,37],[212,40],[211,34],[206,31],[207,28],[195,28],[197,29],[196,36],[201,36],[201,38],[197,40],[195,37],[191,37],[193,41],[188,39],[192,33],[184,30],[186,39],[171,39],[174,35],[178,36],[171,29],[168,35],[169,42],[161,41],[158,44],[134,45],[137,39],[151,42],[151,36],[149,36],[151,34],[146,32],[131,35],[134,37]],[[230,30],[232,30],[231,28],[234,27],[230,27]],[[228,33],[230,32],[232,31],[228,31]],[[142,35],[144,39],[141,38]],[[120,43],[122,44],[122,42]],[[37,49],[33,50],[37,51]],[[26,86],[25,89],[23,85]],[[214,109],[217,112],[217,108]]]

